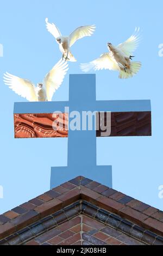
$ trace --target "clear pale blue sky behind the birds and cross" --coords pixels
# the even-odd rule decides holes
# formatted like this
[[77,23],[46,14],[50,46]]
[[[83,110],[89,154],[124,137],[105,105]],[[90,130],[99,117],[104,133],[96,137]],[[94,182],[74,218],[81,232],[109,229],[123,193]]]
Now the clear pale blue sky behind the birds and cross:
[[[46,30],[46,17],[63,34],[96,24],[92,37],[73,45],[78,62],[70,64],[68,74],[82,73],[79,64],[107,51],[106,42],[116,45],[136,26],[142,29],[142,41],[135,52],[135,60],[142,62],[139,74],[122,81],[117,72],[96,72],[97,100],[151,99],[153,136],[97,138],[97,164],[112,165],[116,190],[163,210],[163,199],[158,197],[158,187],[163,185],[163,58],[158,56],[158,45],[163,42],[162,8],[158,0],[154,4],[140,0],[1,0],[0,185],[4,199],[0,199],[0,213],[49,190],[51,166],[67,164],[67,138],[14,139],[14,102],[26,100],[3,83],[5,71],[40,82],[59,60],[61,53]],[[68,75],[53,100],[68,100]]]

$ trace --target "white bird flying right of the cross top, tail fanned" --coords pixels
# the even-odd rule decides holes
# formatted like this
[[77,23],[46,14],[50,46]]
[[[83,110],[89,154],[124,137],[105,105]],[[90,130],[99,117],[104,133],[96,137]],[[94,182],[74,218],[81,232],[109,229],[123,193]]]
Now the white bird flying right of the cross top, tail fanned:
[[141,62],[131,62],[133,52],[139,46],[140,35],[139,29],[135,29],[135,34],[118,46],[108,43],[109,52],[103,53],[99,58],[89,63],[80,64],[84,72],[90,70],[116,70],[120,72],[119,78],[129,78],[137,74],[141,68]]

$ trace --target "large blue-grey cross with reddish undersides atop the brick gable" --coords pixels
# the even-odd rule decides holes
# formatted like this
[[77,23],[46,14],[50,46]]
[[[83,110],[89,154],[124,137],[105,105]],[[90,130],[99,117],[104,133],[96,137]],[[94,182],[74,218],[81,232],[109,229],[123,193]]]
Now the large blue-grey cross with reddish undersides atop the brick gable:
[[[15,137],[68,137],[67,167],[52,167],[51,188],[77,175],[96,179],[112,187],[111,166],[96,164],[96,137],[103,136],[102,130],[70,129],[68,133],[62,130],[60,135],[57,135],[52,129],[52,113],[57,111],[65,113],[65,107],[68,107],[70,124],[71,113],[74,111],[80,115],[88,111],[97,112],[96,117],[99,112],[111,112],[111,132],[108,136],[151,136],[151,102],[149,100],[96,101],[95,75],[70,75],[69,93],[69,101],[65,102],[15,103]],[[105,121],[106,115],[103,115],[103,119],[99,119],[99,122]],[[51,132],[41,133],[43,127],[47,129],[49,126]]]

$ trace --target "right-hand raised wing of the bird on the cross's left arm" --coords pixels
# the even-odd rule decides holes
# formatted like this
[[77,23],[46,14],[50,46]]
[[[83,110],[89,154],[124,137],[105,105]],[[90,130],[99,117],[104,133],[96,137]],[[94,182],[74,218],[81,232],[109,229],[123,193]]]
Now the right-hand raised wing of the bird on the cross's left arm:
[[60,59],[54,68],[46,75],[43,84],[46,88],[47,100],[52,101],[53,94],[60,87],[68,70],[68,64]]

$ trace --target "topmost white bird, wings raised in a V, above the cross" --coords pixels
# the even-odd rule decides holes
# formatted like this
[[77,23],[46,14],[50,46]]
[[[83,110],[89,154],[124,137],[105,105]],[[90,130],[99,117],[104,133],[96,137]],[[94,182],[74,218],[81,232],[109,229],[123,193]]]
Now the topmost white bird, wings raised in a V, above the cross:
[[45,21],[47,30],[54,36],[59,44],[59,49],[62,52],[62,59],[65,58],[65,60],[70,60],[70,62],[77,61],[70,52],[70,47],[80,38],[84,38],[84,36],[91,36],[96,28],[95,25],[83,26],[77,28],[69,36],[62,36],[58,27],[55,26],[54,23],[49,23],[47,18]]

